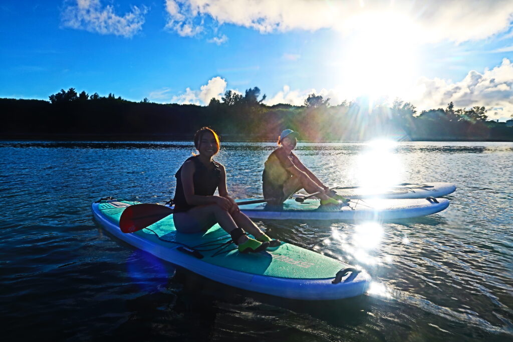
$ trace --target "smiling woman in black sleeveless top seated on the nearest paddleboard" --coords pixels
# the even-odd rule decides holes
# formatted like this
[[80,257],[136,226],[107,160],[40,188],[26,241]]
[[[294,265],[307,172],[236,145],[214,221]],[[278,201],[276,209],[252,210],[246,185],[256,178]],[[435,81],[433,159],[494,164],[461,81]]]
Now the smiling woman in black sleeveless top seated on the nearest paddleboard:
[[[212,159],[219,152],[218,134],[203,127],[194,134],[194,146],[200,153],[187,158],[175,174],[173,220],[176,230],[198,233],[219,223],[242,253],[279,246],[279,240],[264,234],[228,196],[225,167]],[[219,196],[214,196],[215,189]],[[248,237],[245,231],[256,239]]]

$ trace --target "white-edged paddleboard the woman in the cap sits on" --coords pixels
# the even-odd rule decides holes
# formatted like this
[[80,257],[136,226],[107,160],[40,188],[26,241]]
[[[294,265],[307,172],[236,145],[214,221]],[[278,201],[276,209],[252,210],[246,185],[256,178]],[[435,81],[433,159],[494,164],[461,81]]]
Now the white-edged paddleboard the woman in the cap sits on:
[[[242,202],[242,200],[241,200]],[[239,208],[250,218],[264,219],[330,219],[347,221],[390,220],[419,217],[438,213],[449,206],[445,198],[418,199],[353,199],[341,209],[324,210],[318,199],[303,203],[287,199],[283,208],[265,203],[241,205]]]

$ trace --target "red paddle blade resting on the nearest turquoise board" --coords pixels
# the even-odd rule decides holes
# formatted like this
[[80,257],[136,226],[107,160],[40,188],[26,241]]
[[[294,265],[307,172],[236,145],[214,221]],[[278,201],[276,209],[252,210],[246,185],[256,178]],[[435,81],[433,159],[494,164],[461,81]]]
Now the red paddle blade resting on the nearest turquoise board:
[[123,233],[133,233],[151,226],[173,213],[173,209],[160,204],[142,203],[127,207],[120,218]]

